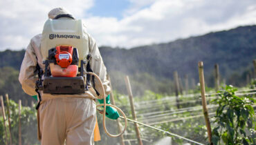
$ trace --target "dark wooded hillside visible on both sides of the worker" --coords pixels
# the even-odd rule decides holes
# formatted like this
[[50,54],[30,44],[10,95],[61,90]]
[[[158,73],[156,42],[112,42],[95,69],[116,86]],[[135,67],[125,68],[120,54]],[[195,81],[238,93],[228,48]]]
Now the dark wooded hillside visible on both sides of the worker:
[[[213,86],[213,67],[219,64],[222,79],[227,84],[243,86],[246,75],[252,74],[253,59],[256,58],[256,26],[243,26],[232,30],[211,32],[198,37],[178,39],[137,48],[120,49],[101,47],[104,64],[110,72],[115,90],[126,93],[124,75],[131,76],[135,94],[149,89],[158,93],[172,92],[173,72],[181,78],[189,75],[198,81],[198,61],[203,61],[208,86]],[[24,57],[24,50],[0,52],[0,93],[15,93],[21,90],[17,74]],[[6,66],[15,68],[5,68]],[[6,70],[12,70],[10,80]],[[15,79],[13,77],[15,75]],[[7,87],[8,86],[8,87]],[[16,88],[15,87],[18,86]],[[8,88],[8,90],[6,90]],[[171,88],[171,89],[170,89]],[[12,91],[15,90],[15,91]],[[17,96],[24,94],[17,94]]]

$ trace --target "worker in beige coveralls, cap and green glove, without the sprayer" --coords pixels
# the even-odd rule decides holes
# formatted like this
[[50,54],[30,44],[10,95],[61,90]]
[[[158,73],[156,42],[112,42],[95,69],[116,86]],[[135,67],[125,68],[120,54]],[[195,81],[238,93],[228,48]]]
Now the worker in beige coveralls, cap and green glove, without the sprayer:
[[[48,12],[48,19],[54,19],[59,14],[66,15],[70,12],[64,8],[54,8]],[[65,17],[64,19],[69,18]],[[110,103],[111,88],[100,51],[95,40],[86,32],[85,26],[82,30],[82,35],[86,37],[89,44],[91,69],[102,80],[106,96],[95,96],[91,90],[85,91],[84,94],[74,95],[52,95],[41,92],[42,101],[37,111],[39,113],[39,139],[42,139],[42,145],[62,145],[65,139],[67,145],[93,144],[93,131],[96,124],[96,108],[93,98],[97,97],[102,103],[103,98],[106,97],[107,103]],[[19,81],[24,92],[31,96],[37,95],[35,91],[35,82],[38,79],[36,68],[37,66],[44,68],[41,43],[42,34],[36,35],[30,40],[19,73]],[[95,90],[100,90],[99,87],[98,81],[95,80]],[[101,94],[100,91],[99,94]],[[109,106],[107,106],[106,115],[111,119],[119,117],[116,109]]]

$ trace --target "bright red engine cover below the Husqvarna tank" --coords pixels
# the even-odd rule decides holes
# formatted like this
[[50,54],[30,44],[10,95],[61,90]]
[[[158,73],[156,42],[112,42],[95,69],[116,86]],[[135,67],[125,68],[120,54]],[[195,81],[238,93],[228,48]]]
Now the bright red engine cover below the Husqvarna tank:
[[67,68],[72,63],[73,47],[57,46],[56,50],[56,63],[62,68]]

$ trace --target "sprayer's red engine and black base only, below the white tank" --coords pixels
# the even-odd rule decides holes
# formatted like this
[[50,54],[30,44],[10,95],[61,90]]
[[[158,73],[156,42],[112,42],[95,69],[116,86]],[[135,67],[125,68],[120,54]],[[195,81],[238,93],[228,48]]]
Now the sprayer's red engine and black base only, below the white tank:
[[[43,93],[84,93],[86,90],[84,69],[81,65],[80,74],[78,74],[78,60],[77,49],[72,46],[57,46],[48,50],[48,59],[44,61]],[[84,61],[81,61],[81,64],[84,64]]]

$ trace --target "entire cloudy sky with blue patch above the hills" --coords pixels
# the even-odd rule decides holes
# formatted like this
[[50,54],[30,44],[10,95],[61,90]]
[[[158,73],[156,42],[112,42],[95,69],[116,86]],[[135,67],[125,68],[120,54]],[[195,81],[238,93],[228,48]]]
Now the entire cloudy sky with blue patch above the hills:
[[82,19],[98,46],[133,48],[256,24],[255,0],[0,0],[0,51],[21,50],[56,7]]

